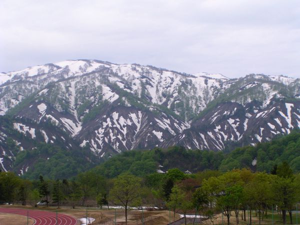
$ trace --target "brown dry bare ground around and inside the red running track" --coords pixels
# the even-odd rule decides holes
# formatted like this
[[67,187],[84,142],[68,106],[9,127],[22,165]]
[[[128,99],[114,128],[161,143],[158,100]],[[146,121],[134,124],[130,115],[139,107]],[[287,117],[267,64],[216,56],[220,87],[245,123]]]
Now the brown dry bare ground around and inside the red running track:
[[[1,206],[2,207],[2,206]],[[63,213],[66,215],[71,215],[76,219],[86,217],[86,208],[70,208],[70,207],[62,207],[56,209],[56,207],[31,207],[31,206],[22,206],[22,205],[5,205],[3,207],[18,207],[18,208],[28,208],[28,209],[37,209],[37,210],[47,210],[47,211],[56,211],[58,213]],[[26,216],[14,215],[14,214],[6,214],[0,213],[2,217],[0,217],[0,225],[21,225],[27,224]],[[16,217],[20,217],[19,220],[14,220],[14,223],[8,223],[10,219],[14,219]],[[24,217],[24,218],[23,218]],[[95,218],[95,221],[92,224],[114,224],[114,219],[116,220],[116,224],[125,224],[125,212],[124,209],[97,209],[97,208],[87,208],[87,217]],[[128,210],[127,220],[128,225],[133,224],[141,224],[142,219],[144,219],[147,225],[160,225],[169,223],[169,218],[173,221],[173,213],[169,214],[168,210],[153,210],[153,211],[141,211],[141,210]],[[179,215],[175,214],[175,219],[179,219]],[[5,219],[5,220],[4,220]],[[2,221],[5,221],[4,223]],[[7,221],[7,222],[6,222]],[[32,222],[29,224],[33,223]],[[79,222],[77,224],[80,224]]]

